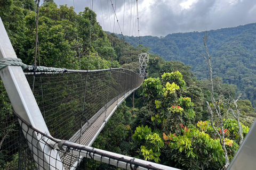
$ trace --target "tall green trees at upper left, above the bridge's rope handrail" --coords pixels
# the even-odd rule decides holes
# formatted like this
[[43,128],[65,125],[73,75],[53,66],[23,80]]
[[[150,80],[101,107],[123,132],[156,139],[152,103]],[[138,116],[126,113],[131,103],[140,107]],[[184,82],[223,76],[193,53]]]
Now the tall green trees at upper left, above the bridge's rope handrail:
[[[33,64],[36,35],[34,1],[10,0],[1,3],[6,8],[0,9],[0,16],[17,56],[23,63]],[[57,7],[52,1],[45,1],[39,7],[39,15],[40,55],[37,55],[37,65],[66,69],[81,67],[83,70],[106,69],[110,67],[112,58],[111,67],[119,67],[107,34],[97,22],[97,15],[88,7],[76,14],[73,7]]]

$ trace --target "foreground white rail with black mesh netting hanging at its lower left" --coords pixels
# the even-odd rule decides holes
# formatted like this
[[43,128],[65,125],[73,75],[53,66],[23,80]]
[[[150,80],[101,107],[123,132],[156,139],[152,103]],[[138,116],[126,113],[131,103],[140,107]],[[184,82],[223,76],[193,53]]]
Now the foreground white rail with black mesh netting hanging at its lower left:
[[[164,165],[159,165],[156,163],[150,163],[145,160],[140,160],[124,155],[115,154],[113,152],[108,152],[100,149],[95,149],[87,146],[78,145],[77,143],[68,142],[65,140],[59,140],[52,138],[50,135],[46,135],[43,132],[38,131],[33,126],[29,125],[25,120],[23,120],[17,114],[18,120],[20,122],[20,150],[22,150],[21,157],[26,156],[26,159],[19,159],[18,167],[19,169],[56,169],[56,163],[59,161],[57,156],[47,155],[47,152],[38,150],[38,145],[49,145],[52,149],[57,150],[58,155],[63,155],[63,159],[66,157],[71,157],[71,159],[83,159],[80,164],[74,166],[63,162],[60,160],[60,165],[62,168],[57,169],[170,169],[175,170],[176,168],[167,167]],[[41,140],[38,141],[36,136],[40,136]],[[24,138],[25,136],[25,138]],[[24,145],[27,144],[27,145]],[[28,150],[28,147],[34,148],[33,152]],[[48,152],[49,153],[49,152]],[[40,159],[42,156],[37,154],[44,154],[43,158],[47,157],[50,160]],[[43,164],[36,164],[32,158],[37,158],[37,162],[43,162]],[[82,156],[82,157],[81,157]],[[30,159],[27,159],[30,158]],[[51,163],[51,160],[53,164]],[[46,164],[45,164],[46,163]],[[65,167],[65,168],[64,168]]]

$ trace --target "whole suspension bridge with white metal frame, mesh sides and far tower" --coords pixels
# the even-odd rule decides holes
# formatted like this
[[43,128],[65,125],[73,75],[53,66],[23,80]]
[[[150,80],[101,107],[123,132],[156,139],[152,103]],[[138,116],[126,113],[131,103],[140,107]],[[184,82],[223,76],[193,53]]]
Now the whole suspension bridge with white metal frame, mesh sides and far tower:
[[[176,169],[91,148],[117,107],[147,76],[148,55],[138,57],[139,73],[29,66],[17,58],[0,19],[0,76],[15,114],[6,124],[20,127],[6,146],[13,155],[18,151],[18,169],[94,169],[80,166],[89,159],[124,169]],[[228,169],[254,169],[255,138],[254,122]]]

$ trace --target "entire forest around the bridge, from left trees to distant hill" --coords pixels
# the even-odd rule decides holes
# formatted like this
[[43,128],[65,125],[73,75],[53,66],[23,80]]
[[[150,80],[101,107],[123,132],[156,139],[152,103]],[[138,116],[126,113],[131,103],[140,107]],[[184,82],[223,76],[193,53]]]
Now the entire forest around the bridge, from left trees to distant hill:
[[[0,5],[0,16],[17,56],[32,64],[36,32],[34,1],[0,0]],[[148,78],[134,98],[127,98],[119,107],[94,147],[182,169],[221,169],[226,159],[234,157],[256,117],[252,107],[256,106],[253,65],[256,24],[209,31],[208,44],[214,56],[213,79],[209,80],[207,64],[199,55],[205,50],[202,32],[161,38],[145,36],[141,37],[142,45],[137,46],[134,43],[138,42],[137,37],[118,39],[119,35],[103,31],[97,14],[88,7],[77,14],[73,7],[58,7],[53,1],[45,1],[39,13],[41,65],[82,70],[121,66],[138,72],[139,52],[150,54]],[[39,63],[39,56],[37,60]],[[214,91],[209,85],[211,81]],[[4,123],[14,117],[1,80],[0,91],[2,143],[18,127]],[[240,92],[243,100],[237,101]],[[212,97],[237,103],[214,103]],[[209,107],[216,106],[223,124],[216,115],[211,123]],[[240,122],[230,109],[241,113]],[[8,151],[0,145],[0,168],[9,166],[8,162],[17,162],[17,155],[7,162],[8,154],[4,153]]]

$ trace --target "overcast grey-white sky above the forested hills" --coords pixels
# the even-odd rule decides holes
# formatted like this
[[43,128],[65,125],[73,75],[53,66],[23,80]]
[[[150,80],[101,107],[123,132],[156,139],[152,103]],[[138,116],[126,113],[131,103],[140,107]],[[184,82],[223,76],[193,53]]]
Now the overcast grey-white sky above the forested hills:
[[[73,0],[54,1],[58,5],[74,6]],[[111,2],[119,25],[116,19],[114,21]],[[93,3],[92,0],[74,0],[74,4],[77,13],[86,6],[93,8],[103,30],[138,36],[135,0],[94,0]],[[256,22],[256,0],[138,0],[138,13],[140,36],[159,37]]]

